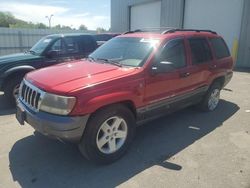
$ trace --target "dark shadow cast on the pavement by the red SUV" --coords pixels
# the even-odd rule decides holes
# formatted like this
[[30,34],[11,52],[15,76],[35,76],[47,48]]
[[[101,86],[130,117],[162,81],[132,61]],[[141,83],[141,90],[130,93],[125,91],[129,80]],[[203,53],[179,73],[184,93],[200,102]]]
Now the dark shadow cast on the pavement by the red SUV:
[[[239,107],[221,100],[215,112],[184,109],[137,129],[127,154],[119,161],[98,166],[85,160],[73,144],[63,144],[42,135],[17,141],[9,153],[13,180],[21,187],[116,187],[136,174],[159,165],[181,170],[170,163],[176,153],[222,126]],[[171,160],[172,161],[172,160]]]

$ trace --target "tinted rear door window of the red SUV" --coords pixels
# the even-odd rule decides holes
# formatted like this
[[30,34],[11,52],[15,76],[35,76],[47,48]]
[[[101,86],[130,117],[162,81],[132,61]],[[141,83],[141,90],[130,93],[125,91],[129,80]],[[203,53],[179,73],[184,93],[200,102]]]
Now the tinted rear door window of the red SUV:
[[190,38],[193,64],[203,64],[212,60],[212,53],[205,38]]

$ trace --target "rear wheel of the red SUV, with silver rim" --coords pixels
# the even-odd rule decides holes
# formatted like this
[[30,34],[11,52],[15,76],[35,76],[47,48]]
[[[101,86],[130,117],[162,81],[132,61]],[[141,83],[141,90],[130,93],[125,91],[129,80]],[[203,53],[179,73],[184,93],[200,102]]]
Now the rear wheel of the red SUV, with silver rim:
[[213,83],[198,107],[204,112],[214,111],[220,102],[220,91],[221,84],[219,82]]

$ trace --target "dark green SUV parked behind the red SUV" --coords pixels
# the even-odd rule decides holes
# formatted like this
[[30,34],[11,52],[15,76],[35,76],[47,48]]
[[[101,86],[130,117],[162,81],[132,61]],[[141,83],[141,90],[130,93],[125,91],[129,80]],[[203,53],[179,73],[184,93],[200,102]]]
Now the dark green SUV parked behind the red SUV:
[[93,35],[54,34],[42,38],[29,51],[0,57],[0,91],[14,104],[24,75],[35,69],[87,57],[97,48]]

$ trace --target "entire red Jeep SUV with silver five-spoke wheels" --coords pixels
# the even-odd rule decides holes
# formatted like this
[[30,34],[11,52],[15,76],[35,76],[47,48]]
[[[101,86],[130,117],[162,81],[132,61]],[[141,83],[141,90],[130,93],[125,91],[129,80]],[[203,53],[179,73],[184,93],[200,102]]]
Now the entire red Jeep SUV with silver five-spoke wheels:
[[136,125],[190,105],[215,110],[233,64],[210,30],[130,31],[87,59],[28,73],[16,118],[110,163],[125,153]]

